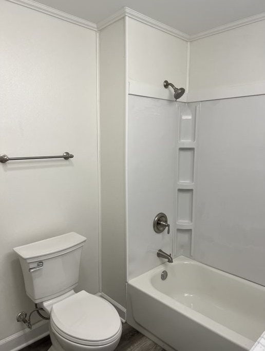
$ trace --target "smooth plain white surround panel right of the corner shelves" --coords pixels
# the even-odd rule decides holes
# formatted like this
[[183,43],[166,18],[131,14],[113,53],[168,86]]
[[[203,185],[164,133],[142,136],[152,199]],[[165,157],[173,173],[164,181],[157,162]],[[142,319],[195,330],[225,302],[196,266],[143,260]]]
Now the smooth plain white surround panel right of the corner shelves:
[[265,95],[201,103],[195,259],[265,285]]

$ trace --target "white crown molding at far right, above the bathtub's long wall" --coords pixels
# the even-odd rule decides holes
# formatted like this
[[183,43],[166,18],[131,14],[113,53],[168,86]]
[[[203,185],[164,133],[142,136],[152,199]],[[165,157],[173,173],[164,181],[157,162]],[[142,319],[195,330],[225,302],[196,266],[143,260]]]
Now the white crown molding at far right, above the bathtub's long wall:
[[200,32],[198,34],[190,35],[189,41],[193,42],[194,40],[202,39],[202,38],[205,38],[207,36],[226,32],[228,30],[239,28],[242,26],[247,26],[247,25],[250,25],[250,24],[255,23],[255,22],[259,22],[260,20],[264,20],[264,19],[265,19],[265,12],[262,12],[262,13],[259,13],[257,15],[251,16],[251,17],[242,18],[242,19],[236,20],[235,22],[230,22],[226,25],[215,27],[213,29],[206,30],[204,32]]

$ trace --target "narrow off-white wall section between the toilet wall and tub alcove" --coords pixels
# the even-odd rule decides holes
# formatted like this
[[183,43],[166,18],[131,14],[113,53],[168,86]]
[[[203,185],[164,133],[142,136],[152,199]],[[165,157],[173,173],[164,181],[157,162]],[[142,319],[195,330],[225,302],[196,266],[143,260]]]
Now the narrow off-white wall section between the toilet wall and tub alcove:
[[100,32],[102,291],[126,305],[124,19]]

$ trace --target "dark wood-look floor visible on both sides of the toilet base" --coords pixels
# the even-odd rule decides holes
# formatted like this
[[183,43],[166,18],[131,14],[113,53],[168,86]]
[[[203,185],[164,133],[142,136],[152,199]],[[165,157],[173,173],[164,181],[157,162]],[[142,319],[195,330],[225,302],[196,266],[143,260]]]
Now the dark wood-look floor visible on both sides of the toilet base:
[[[50,338],[47,336],[34,344],[24,347],[22,351],[47,351],[50,345]],[[121,341],[116,351],[164,351],[164,349],[125,323],[122,328]]]

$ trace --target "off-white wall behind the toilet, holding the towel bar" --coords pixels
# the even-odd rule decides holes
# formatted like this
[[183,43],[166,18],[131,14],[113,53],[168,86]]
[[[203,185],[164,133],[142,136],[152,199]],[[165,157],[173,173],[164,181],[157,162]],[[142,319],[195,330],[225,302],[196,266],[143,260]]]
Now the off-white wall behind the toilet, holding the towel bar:
[[0,164],[0,339],[34,308],[12,247],[75,231],[87,237],[79,288],[99,290],[96,34],[0,2],[0,152],[73,153]]

